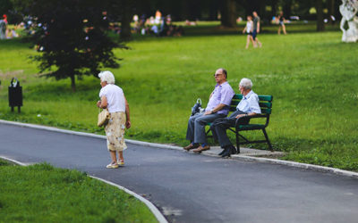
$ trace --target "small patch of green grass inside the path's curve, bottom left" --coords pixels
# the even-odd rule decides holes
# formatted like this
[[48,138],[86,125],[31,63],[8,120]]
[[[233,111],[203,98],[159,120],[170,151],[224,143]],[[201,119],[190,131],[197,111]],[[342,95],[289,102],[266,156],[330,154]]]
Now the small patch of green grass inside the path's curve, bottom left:
[[132,195],[77,170],[0,160],[0,185],[0,222],[157,222]]

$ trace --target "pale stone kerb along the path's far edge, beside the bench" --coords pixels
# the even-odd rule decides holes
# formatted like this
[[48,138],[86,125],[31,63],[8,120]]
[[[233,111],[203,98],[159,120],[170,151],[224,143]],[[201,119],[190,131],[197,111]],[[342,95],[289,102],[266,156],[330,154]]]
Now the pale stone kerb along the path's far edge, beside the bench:
[[[77,136],[90,136],[90,137],[96,137],[96,138],[101,138],[101,139],[107,139],[106,136],[100,136],[100,135],[93,134],[93,133],[65,130],[65,129],[61,129],[61,128],[40,126],[40,125],[21,123],[21,122],[16,122],[16,121],[0,120],[0,124],[1,123],[14,125],[14,126],[27,127],[27,128],[38,128],[38,129],[60,132],[60,133],[71,134],[71,135],[77,135]],[[125,142],[134,144],[134,145],[143,145],[143,146],[150,146],[150,147],[155,147],[155,148],[183,151],[182,147],[175,146],[175,145],[161,145],[161,144],[142,142],[142,141],[132,140],[132,139],[125,139]],[[212,154],[205,154],[205,155],[216,157],[216,155],[212,155]],[[289,167],[300,168],[300,169],[312,169],[312,170],[321,171],[321,172],[334,173],[334,174],[349,177],[349,178],[358,178],[358,172],[344,170],[344,169],[323,167],[323,166],[319,166],[319,165],[307,164],[307,163],[302,163],[302,162],[282,161],[282,160],[276,160],[276,159],[245,156],[245,155],[233,155],[232,158],[235,160],[241,160],[241,161],[258,161],[258,162],[263,162],[263,163],[286,165]]]

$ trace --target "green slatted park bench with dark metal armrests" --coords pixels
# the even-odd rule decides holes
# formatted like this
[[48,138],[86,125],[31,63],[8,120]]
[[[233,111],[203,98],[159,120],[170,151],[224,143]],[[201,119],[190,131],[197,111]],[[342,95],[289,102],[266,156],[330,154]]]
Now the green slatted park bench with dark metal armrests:
[[[233,100],[231,101],[230,104],[230,111],[236,111],[236,106],[238,103],[240,103],[241,99],[243,99],[243,95],[241,94],[235,94],[233,97]],[[236,146],[237,146],[237,152],[240,153],[240,145],[247,145],[247,144],[258,144],[258,143],[267,143],[268,144],[268,148],[270,151],[272,151],[272,145],[269,142],[268,139],[268,134],[266,132],[266,128],[268,127],[268,122],[269,122],[269,115],[271,114],[272,111],[272,100],[273,100],[273,96],[272,95],[259,95],[259,104],[260,104],[260,109],[261,109],[261,113],[260,114],[256,114],[254,116],[250,116],[250,118],[248,117],[242,117],[240,119],[266,119],[265,120],[265,124],[247,124],[247,125],[239,125],[238,120],[236,120],[236,124],[234,127],[232,128],[228,128],[230,131],[234,132],[235,136],[236,136]],[[209,126],[211,126],[211,123],[208,123]],[[210,132],[210,128],[207,131],[207,135]],[[244,137],[243,135],[240,134],[240,132],[242,131],[250,131],[250,130],[262,130],[263,135],[265,136],[265,140],[255,140],[255,141],[250,141],[249,139],[247,139],[246,137]],[[240,138],[242,138],[243,140],[240,140]]]

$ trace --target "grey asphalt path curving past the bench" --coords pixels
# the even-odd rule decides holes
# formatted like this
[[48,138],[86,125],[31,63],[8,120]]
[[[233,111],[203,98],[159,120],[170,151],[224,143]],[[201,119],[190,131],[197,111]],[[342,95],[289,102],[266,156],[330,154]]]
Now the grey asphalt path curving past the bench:
[[358,179],[284,165],[127,144],[106,169],[106,140],[0,124],[0,155],[79,169],[141,194],[169,222],[357,222]]

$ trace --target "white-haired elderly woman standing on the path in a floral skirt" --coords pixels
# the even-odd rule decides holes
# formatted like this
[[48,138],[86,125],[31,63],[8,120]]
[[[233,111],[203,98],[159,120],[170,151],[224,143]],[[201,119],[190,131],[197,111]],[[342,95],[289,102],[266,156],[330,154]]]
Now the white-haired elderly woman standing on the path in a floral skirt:
[[97,106],[98,108],[108,109],[110,114],[105,131],[107,148],[112,162],[107,165],[107,168],[118,168],[118,166],[124,166],[123,151],[127,148],[124,142],[124,128],[131,128],[129,105],[122,88],[115,86],[115,76],[111,71],[100,72],[98,77],[102,89],[99,92],[101,100],[98,101]]

